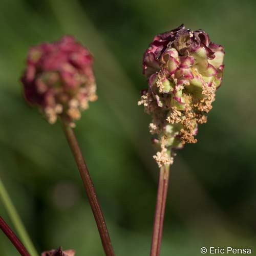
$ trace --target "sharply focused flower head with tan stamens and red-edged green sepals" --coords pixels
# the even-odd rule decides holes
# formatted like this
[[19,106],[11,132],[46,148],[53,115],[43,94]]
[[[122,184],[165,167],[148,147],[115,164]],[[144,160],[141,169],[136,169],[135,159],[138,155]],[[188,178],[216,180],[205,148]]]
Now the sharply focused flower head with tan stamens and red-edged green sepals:
[[181,25],[155,36],[143,57],[143,74],[148,88],[139,105],[152,115],[151,134],[159,167],[172,164],[174,149],[196,143],[198,123],[215,100],[221,85],[224,49],[210,41],[203,30]]

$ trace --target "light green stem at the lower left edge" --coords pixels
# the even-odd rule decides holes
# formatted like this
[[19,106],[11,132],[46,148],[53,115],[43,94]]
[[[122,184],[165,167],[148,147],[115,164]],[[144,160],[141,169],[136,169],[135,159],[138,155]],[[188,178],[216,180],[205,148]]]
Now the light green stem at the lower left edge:
[[38,256],[38,253],[36,252],[36,249],[28,236],[28,233],[22,223],[22,220],[19,218],[19,215],[11,201],[11,198],[8,195],[8,192],[4,186],[4,183],[1,180],[1,177],[0,177],[0,198],[2,199],[2,202],[18,233],[20,240],[22,240],[22,242],[24,243],[24,245],[26,246],[26,248],[28,249],[29,253],[32,256]]

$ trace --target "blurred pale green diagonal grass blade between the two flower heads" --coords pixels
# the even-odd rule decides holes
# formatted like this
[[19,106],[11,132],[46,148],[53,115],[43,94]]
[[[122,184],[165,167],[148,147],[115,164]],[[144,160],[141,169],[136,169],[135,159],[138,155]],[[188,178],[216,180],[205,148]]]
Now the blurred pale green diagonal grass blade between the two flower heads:
[[142,136],[143,133],[140,131],[146,117],[137,106],[140,98],[139,92],[136,91],[133,83],[122,70],[121,64],[106,46],[100,32],[97,31],[87,14],[82,11],[78,1],[56,0],[48,1],[48,3],[62,31],[77,37],[94,55],[98,91],[115,113],[123,131],[136,148],[144,164],[152,170],[152,173],[155,173],[155,166],[148,162],[148,156],[152,155],[150,135]]

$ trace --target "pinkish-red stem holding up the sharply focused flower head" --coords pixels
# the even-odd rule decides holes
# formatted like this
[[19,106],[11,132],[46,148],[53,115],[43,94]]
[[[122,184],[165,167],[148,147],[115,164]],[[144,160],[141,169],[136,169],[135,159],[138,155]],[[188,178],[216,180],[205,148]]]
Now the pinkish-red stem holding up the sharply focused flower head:
[[164,211],[169,181],[169,165],[160,168],[155,219],[151,242],[151,256],[159,256],[163,231]]

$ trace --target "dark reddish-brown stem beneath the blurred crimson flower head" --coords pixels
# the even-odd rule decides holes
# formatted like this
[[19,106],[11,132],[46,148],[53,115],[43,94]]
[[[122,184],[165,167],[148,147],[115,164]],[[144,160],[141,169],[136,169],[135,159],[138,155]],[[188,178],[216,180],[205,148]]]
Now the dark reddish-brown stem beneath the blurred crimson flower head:
[[114,256],[115,253],[111,244],[109,232],[106,228],[105,220],[93,187],[93,183],[90,178],[86,162],[82,157],[82,153],[76,140],[74,131],[70,127],[68,120],[65,117],[61,116],[61,121],[63,124],[63,130],[65,131],[66,138],[68,140],[71,151],[74,155],[80,176],[82,178],[84,189],[86,190],[86,194],[93,211],[93,215],[98,227],[103,249],[105,251],[106,256]]

